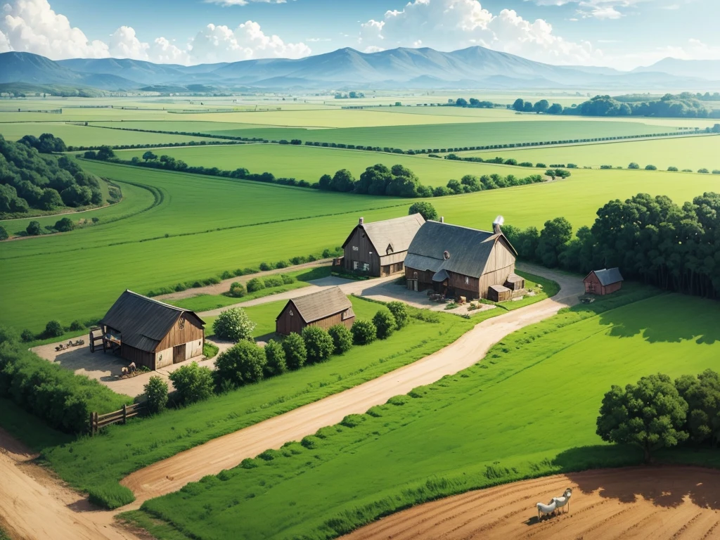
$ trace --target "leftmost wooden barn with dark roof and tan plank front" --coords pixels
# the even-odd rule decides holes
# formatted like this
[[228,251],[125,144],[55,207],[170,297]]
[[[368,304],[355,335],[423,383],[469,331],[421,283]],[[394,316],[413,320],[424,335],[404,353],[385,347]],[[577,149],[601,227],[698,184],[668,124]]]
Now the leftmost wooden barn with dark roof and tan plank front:
[[202,355],[204,321],[194,312],[126,290],[100,321],[103,350],[160,369]]

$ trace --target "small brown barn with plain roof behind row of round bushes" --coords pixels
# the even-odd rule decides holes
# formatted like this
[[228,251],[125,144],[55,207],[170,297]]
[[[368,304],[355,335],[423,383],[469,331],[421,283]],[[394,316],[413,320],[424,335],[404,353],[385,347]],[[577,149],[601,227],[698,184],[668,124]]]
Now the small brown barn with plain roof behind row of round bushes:
[[355,321],[353,305],[340,287],[324,289],[289,300],[275,319],[275,331],[282,336],[300,333],[306,326],[343,324],[350,328]]

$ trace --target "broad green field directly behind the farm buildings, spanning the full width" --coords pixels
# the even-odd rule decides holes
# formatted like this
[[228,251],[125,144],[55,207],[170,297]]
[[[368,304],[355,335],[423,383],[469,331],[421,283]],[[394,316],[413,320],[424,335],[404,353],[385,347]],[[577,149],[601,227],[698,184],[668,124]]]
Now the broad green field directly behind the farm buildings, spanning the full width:
[[[316,192],[91,161],[83,161],[83,166],[121,185],[132,181],[150,186],[161,200],[123,220],[107,224],[101,220],[71,233],[1,244],[4,279],[13,284],[4,291],[3,300],[13,308],[0,310],[0,323],[37,332],[50,319],[68,325],[76,319],[99,318],[124,289],[143,293],[219,276],[226,270],[257,267],[264,261],[318,255],[340,246],[360,216],[367,222],[399,217],[416,200]],[[516,175],[528,171],[503,169]],[[591,225],[598,208],[611,199],[647,192],[685,202],[716,189],[717,177],[712,175],[575,171],[563,181],[441,197],[433,199],[433,205],[447,221],[469,227],[489,228],[493,218],[502,214],[505,222],[519,227],[540,227],[548,219],[564,216],[577,230]],[[122,210],[128,209],[130,204]],[[53,268],[53,279],[48,279],[48,268]]]

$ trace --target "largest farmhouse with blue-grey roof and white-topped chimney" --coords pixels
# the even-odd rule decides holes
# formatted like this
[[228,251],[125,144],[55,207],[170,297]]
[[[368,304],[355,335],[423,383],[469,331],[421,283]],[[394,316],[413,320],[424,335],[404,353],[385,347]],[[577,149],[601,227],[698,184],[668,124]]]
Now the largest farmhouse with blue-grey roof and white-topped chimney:
[[[442,218],[440,222],[426,222],[405,257],[408,289],[432,288],[446,296],[468,299],[511,297],[518,284],[515,277],[511,278],[518,253],[500,230],[498,220],[492,226],[489,232],[449,225]],[[506,283],[513,289],[505,287]]]

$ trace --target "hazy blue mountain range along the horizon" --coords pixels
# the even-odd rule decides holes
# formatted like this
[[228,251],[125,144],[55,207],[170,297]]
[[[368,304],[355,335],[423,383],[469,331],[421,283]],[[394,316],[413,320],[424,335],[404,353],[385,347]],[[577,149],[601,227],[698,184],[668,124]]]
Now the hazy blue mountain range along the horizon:
[[552,66],[482,47],[443,53],[343,48],[299,60],[266,58],[180,66],[117,58],[53,61],[0,54],[0,84],[61,84],[105,91],[200,92],[236,89],[607,89],[714,90],[720,60],[666,58],[632,72]]

